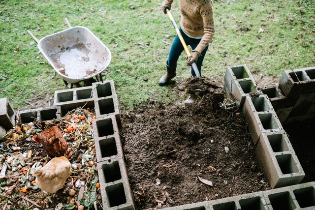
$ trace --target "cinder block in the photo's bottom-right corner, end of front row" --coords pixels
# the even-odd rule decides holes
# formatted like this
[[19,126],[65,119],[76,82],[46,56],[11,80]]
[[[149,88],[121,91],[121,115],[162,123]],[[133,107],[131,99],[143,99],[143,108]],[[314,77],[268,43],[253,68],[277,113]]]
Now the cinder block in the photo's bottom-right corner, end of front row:
[[315,182],[263,191],[270,210],[314,210]]

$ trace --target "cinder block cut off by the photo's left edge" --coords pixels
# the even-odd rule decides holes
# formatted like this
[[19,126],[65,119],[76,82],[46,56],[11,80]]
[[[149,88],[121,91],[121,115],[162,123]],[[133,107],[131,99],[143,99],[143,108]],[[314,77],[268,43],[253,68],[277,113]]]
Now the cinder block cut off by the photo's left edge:
[[0,125],[5,129],[11,129],[15,126],[16,118],[16,112],[9,100],[7,98],[0,98]]

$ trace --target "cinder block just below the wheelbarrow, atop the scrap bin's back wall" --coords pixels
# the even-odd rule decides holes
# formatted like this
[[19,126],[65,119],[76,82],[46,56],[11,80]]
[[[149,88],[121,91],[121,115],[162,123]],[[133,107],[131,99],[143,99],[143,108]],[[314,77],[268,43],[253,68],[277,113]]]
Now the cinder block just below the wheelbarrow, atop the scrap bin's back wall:
[[94,107],[93,87],[73,88],[55,91],[54,106],[61,107],[61,115],[78,107]]

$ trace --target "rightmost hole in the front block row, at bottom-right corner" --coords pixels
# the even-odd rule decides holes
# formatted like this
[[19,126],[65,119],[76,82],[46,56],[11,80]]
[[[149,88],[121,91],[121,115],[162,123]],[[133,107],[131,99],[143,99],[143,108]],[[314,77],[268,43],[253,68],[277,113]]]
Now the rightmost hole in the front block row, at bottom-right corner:
[[293,190],[295,198],[301,208],[315,207],[315,189],[306,187]]

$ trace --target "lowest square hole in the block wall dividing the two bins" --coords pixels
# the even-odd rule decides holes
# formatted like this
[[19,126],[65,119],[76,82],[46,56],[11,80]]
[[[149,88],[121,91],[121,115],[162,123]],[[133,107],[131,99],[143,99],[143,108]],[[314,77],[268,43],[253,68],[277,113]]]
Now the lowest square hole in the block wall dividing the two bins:
[[123,183],[107,186],[105,188],[109,207],[116,207],[126,204],[126,194]]

